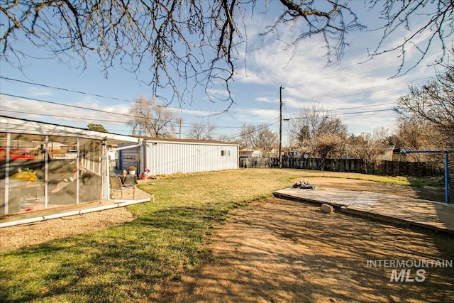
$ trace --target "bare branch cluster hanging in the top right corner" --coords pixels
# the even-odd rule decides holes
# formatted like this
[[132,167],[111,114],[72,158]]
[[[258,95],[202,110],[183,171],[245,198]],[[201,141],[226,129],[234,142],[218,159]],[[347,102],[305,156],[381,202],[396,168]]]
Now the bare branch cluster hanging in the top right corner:
[[[370,52],[370,59],[390,52],[398,52],[401,64],[396,75],[402,75],[419,65],[430,53],[441,49],[443,53],[435,64],[442,63],[452,49],[451,36],[454,33],[454,5],[450,0],[369,0],[370,9],[381,6],[384,25],[382,38],[377,48]],[[419,24],[419,26],[414,26]],[[407,35],[392,46],[384,46],[392,40],[393,34],[405,30]],[[421,42],[422,41],[422,42]],[[450,44],[451,43],[451,44]],[[413,55],[412,55],[413,53]]]

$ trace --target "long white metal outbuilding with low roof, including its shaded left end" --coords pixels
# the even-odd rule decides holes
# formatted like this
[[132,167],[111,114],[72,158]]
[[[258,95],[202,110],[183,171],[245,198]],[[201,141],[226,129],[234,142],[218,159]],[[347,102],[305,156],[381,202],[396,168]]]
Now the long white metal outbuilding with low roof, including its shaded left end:
[[[211,172],[238,168],[238,144],[221,141],[141,137],[142,145],[118,145],[117,166],[150,175]],[[131,146],[131,147],[128,147]]]

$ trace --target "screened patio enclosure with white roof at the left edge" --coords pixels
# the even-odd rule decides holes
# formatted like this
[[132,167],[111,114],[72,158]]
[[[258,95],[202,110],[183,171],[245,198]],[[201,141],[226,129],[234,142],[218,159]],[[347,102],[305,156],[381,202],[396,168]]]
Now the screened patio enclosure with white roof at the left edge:
[[[119,143],[140,139],[0,116],[0,216],[109,200],[106,146]],[[35,155],[17,158],[11,150]]]

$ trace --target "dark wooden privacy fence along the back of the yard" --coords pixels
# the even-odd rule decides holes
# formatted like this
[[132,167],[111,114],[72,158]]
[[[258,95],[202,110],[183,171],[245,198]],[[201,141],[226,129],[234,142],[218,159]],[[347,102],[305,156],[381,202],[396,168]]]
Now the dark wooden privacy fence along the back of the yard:
[[[240,158],[240,167],[279,167],[278,158]],[[442,176],[443,170],[426,162],[379,161],[373,171],[362,159],[326,159],[282,157],[282,167],[332,172],[360,172],[375,175]]]

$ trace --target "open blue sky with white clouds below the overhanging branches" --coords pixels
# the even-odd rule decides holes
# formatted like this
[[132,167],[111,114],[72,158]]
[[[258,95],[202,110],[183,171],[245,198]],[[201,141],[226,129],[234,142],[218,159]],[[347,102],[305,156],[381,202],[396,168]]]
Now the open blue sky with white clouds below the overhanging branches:
[[[358,3],[362,5],[362,1]],[[235,81],[231,84],[236,104],[228,113],[213,116],[226,109],[228,104],[222,101],[212,103],[200,92],[193,99],[182,100],[181,107],[177,102],[170,104],[183,118],[182,138],[189,131],[191,123],[214,124],[218,136],[236,136],[243,123],[270,123],[270,128],[278,131],[281,85],[284,87],[284,119],[292,118],[311,102],[320,102],[343,120],[350,133],[372,132],[379,127],[391,131],[396,117],[390,110],[394,101],[408,92],[410,84],[423,84],[429,77],[433,77],[434,67],[428,66],[428,63],[441,55],[431,50],[426,60],[414,70],[391,79],[400,64],[398,53],[387,53],[367,61],[367,49],[375,48],[381,32],[362,31],[348,35],[350,47],[346,48],[341,64],[326,67],[326,57],[323,56],[325,50],[319,38],[301,41],[293,58],[291,52],[284,51],[285,45],[281,41],[292,40],[295,34],[292,31],[281,33],[281,40],[269,37],[264,43],[260,43],[258,33],[263,31],[266,23],[270,24],[271,17],[256,13],[253,19],[246,19],[248,49],[240,49],[240,55],[247,55],[248,68],[238,70]],[[376,27],[377,20],[376,11],[363,11],[360,15],[360,22],[366,23],[368,28]],[[408,33],[401,31],[394,38],[402,39],[406,34]],[[387,43],[394,45],[394,38],[387,40]],[[423,42],[423,38],[421,41]],[[25,45],[24,48],[31,46]],[[412,52],[414,50],[410,49],[409,55]],[[1,77],[49,87],[0,79],[2,115],[82,128],[88,123],[101,123],[112,133],[129,134],[131,128],[124,123],[124,115],[127,114],[131,101],[140,96],[151,97],[150,87],[140,81],[146,81],[146,72],[134,75],[121,67],[115,67],[109,70],[109,77],[106,78],[96,60],[89,62],[86,70],[77,68],[77,61],[65,65],[52,60],[27,59],[23,63],[25,69],[21,72],[1,60]],[[95,94],[116,99],[94,96]],[[24,97],[100,109],[108,113],[57,106]]]

